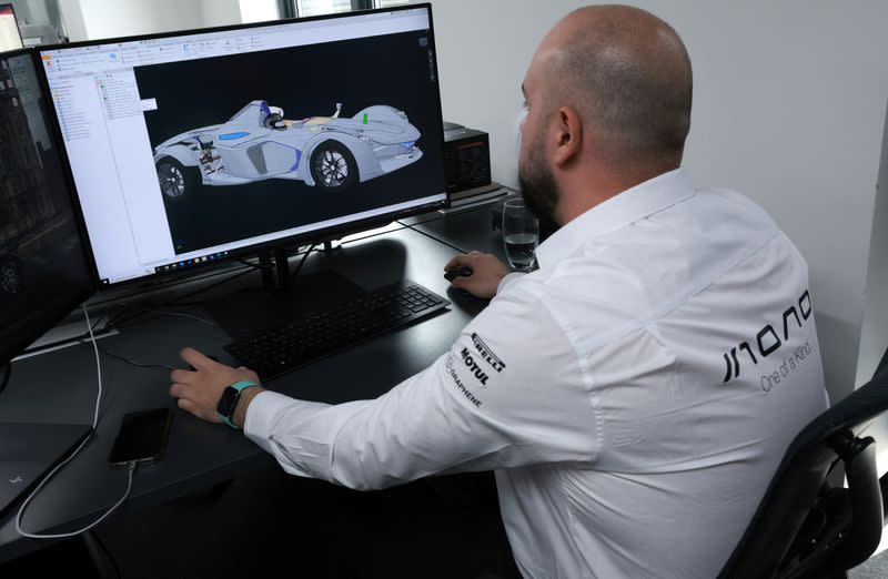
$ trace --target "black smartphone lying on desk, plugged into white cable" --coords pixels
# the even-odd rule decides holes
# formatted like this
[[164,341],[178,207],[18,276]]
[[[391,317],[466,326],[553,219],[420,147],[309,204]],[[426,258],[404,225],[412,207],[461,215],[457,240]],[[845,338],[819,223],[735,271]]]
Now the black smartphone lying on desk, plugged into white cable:
[[111,449],[111,466],[130,463],[157,463],[163,457],[173,421],[170,408],[130,413],[123,417]]

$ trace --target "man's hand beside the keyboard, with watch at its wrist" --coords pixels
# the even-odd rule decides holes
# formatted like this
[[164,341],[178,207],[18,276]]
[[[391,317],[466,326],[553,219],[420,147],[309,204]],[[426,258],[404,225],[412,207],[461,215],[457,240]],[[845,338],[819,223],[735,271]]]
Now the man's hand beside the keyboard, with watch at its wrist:
[[[193,348],[183,348],[180,355],[195,370],[173,370],[170,375],[170,379],[173,383],[170,386],[170,395],[179,398],[180,408],[203,420],[211,423],[222,421],[219,413],[215,412],[215,407],[222,397],[222,392],[230,385],[241,380],[259,384],[256,373],[243,366],[233,368],[220,364]],[[241,397],[242,402],[243,398],[244,396]],[[238,405],[239,409],[242,402]],[[245,408],[239,414],[245,415]],[[239,424],[239,426],[241,425]]]

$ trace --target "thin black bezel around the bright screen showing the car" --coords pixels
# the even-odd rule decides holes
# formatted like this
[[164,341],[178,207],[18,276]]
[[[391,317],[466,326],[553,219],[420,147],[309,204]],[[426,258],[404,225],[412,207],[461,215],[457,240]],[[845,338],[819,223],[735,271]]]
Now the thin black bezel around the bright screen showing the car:
[[[26,50],[33,50],[34,58],[40,62],[40,71],[41,73],[39,77],[41,78],[42,83],[44,84],[46,89],[49,90],[49,79],[47,77],[46,68],[42,65],[42,52],[46,51],[53,51],[53,50],[65,50],[65,49],[78,49],[83,47],[97,47],[102,44],[113,44],[118,42],[138,42],[141,40],[160,40],[160,39],[169,39],[169,38],[176,38],[176,37],[186,37],[191,34],[209,34],[214,32],[228,32],[228,31],[238,31],[238,30],[250,30],[250,29],[259,29],[259,28],[268,28],[268,27],[279,27],[282,24],[289,23],[297,23],[297,22],[312,22],[319,20],[335,20],[335,19],[343,19],[343,18],[354,18],[355,16],[366,16],[373,13],[386,13],[386,12],[403,12],[410,10],[417,10],[417,9],[425,9],[426,13],[428,14],[428,31],[430,31],[430,40],[432,49],[432,67],[434,68],[435,73],[435,84],[437,85],[437,99],[435,105],[437,108],[438,118],[442,120],[442,126],[438,130],[438,133],[435,139],[440,139],[440,146],[441,151],[444,151],[444,113],[441,105],[441,75],[437,67],[437,45],[435,43],[435,29],[434,29],[434,21],[432,14],[432,4],[430,2],[422,2],[416,4],[404,4],[398,7],[391,7],[391,8],[377,8],[372,10],[354,10],[350,12],[341,12],[334,14],[321,14],[314,17],[302,17],[302,18],[282,18],[280,20],[266,20],[263,22],[251,22],[246,24],[232,24],[232,26],[224,26],[224,27],[212,27],[212,28],[199,28],[199,29],[189,29],[189,30],[178,30],[174,32],[161,32],[157,34],[139,34],[132,37],[117,37],[117,38],[108,38],[101,40],[84,40],[79,42],[63,42],[63,43],[56,43],[56,44],[46,44],[41,47],[34,47],[33,49],[26,49]],[[51,93],[51,92],[50,92]],[[52,124],[54,124],[54,132],[61,134],[61,124],[58,118],[58,111],[56,106],[52,106],[51,111],[51,119]],[[73,180],[73,167],[71,167],[71,162],[68,158],[68,149],[64,145],[64,141],[61,141],[62,146],[62,154],[64,159],[64,164],[68,166],[68,172],[71,175],[71,182],[73,186],[73,195],[78,199],[78,209],[80,209],[80,195],[77,192],[77,183]],[[444,160],[442,159],[442,167]],[[158,282],[161,281],[173,281],[173,280],[181,280],[189,275],[193,275],[200,272],[205,272],[208,267],[218,267],[219,264],[226,265],[230,264],[232,261],[241,260],[245,256],[255,255],[258,252],[279,248],[279,247],[299,247],[301,245],[305,245],[306,243],[321,243],[325,241],[333,241],[346,235],[351,235],[354,233],[361,233],[363,231],[372,230],[375,227],[381,227],[392,223],[393,221],[411,217],[414,215],[420,215],[423,213],[430,213],[432,211],[446,209],[451,206],[451,194],[447,191],[446,177],[442,179],[441,182],[442,191],[445,196],[441,201],[436,201],[428,204],[417,205],[415,207],[410,207],[400,211],[392,211],[389,213],[382,213],[380,215],[373,215],[371,217],[365,217],[357,221],[351,221],[349,223],[339,224],[339,225],[331,225],[327,227],[322,227],[317,230],[313,230],[311,232],[305,233],[297,233],[294,235],[289,235],[284,237],[279,237],[273,241],[268,242],[260,242],[250,245],[244,245],[242,247],[238,247],[236,250],[229,250],[228,256],[215,260],[213,262],[206,262],[205,264],[201,265],[193,265],[184,268],[178,268],[170,272],[154,272],[152,274],[140,275],[138,277],[132,277],[128,280],[121,280],[119,282],[107,282],[100,277],[98,263],[94,260],[94,252],[92,251],[92,242],[89,237],[89,227],[87,226],[87,220],[83,215],[83,212],[80,211],[79,219],[82,224],[82,231],[87,234],[87,240],[89,241],[89,251],[91,262],[93,264],[93,270],[95,272],[95,286],[99,291],[104,290],[112,290],[119,288],[124,286],[134,286],[139,284],[145,285],[155,285]]]

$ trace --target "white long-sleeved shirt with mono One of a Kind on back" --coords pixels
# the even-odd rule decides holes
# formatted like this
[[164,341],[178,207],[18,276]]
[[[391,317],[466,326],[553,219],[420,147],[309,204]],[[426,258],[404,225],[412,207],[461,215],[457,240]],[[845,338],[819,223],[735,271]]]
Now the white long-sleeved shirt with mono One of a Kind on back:
[[537,250],[430,368],[375,400],[259,395],[246,435],[352,488],[496,470],[533,578],[713,578],[827,407],[808,270],[746,197],[682,170]]

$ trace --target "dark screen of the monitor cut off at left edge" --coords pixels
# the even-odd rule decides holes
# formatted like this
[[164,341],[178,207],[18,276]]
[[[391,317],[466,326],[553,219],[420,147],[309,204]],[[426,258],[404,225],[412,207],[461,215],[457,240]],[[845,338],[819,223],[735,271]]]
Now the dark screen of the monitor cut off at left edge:
[[0,365],[94,290],[39,70],[0,54]]

